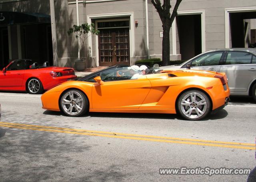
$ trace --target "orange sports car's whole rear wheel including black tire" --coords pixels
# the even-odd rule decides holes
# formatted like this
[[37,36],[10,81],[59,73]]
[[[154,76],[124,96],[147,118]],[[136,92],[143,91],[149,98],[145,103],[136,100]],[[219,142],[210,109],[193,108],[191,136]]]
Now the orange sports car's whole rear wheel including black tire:
[[188,90],[178,98],[177,108],[179,114],[184,119],[197,121],[209,114],[211,110],[211,102],[209,96],[204,92],[199,90]]

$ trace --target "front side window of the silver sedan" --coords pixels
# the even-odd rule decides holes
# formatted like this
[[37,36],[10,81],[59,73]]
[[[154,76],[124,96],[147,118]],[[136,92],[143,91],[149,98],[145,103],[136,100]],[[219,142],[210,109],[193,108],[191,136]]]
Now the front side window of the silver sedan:
[[192,67],[216,66],[220,63],[222,52],[214,52],[202,55],[192,61]]

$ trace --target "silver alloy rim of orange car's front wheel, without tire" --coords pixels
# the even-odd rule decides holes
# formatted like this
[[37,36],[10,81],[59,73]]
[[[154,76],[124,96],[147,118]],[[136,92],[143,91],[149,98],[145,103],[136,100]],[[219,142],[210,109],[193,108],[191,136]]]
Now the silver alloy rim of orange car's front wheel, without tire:
[[84,108],[84,100],[80,93],[71,90],[62,96],[61,105],[67,114],[78,115]]

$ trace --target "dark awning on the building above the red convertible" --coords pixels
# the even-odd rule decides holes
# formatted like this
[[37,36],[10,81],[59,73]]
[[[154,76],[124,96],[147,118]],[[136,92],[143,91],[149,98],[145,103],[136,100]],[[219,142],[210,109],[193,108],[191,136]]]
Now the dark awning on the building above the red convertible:
[[40,13],[1,12],[0,25],[50,23],[51,16]]

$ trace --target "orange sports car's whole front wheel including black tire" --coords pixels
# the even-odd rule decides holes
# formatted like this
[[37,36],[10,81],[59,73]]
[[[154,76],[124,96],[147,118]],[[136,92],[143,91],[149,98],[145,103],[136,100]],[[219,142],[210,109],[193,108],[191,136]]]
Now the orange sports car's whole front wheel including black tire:
[[59,107],[63,114],[79,117],[88,113],[89,102],[85,94],[80,90],[66,90],[60,97]]

